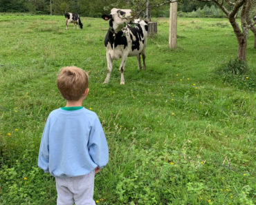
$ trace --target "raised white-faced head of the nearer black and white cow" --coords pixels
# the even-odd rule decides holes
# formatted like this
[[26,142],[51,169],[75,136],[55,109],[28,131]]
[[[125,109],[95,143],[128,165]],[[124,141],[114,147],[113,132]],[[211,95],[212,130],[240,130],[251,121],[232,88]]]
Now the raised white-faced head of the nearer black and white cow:
[[105,21],[109,20],[109,26],[113,29],[113,32],[119,32],[128,23],[134,20],[134,15],[130,9],[112,8],[109,15],[102,15],[102,19]]

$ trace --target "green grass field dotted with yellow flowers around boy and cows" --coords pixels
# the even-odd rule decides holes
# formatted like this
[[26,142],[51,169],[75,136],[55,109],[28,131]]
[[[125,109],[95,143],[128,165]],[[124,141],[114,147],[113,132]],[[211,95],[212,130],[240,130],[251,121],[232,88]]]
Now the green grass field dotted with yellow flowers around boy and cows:
[[[0,14],[0,204],[53,205],[55,180],[37,168],[46,117],[65,106],[55,86],[62,66],[90,72],[84,107],[100,117],[109,164],[95,177],[97,204],[255,204],[255,89],[216,77],[237,56],[227,19],[178,19],[178,48],[168,48],[168,19],[148,40],[147,70],[120,61],[109,84],[108,23],[60,16]],[[247,61],[256,70],[253,35]],[[242,79],[250,80],[251,76]]]

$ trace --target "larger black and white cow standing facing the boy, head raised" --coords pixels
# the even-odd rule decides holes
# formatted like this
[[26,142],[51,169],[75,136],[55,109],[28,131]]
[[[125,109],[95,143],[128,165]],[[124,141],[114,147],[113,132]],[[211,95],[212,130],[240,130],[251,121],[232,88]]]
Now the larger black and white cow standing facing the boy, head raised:
[[107,48],[107,77],[104,84],[109,82],[113,60],[122,59],[120,65],[121,81],[125,84],[125,64],[127,57],[136,56],[138,69],[141,69],[140,55],[143,56],[143,70],[145,65],[145,48],[147,46],[147,22],[137,21],[134,23],[132,10],[113,8],[111,14],[102,15],[102,19],[109,20],[109,30],[104,44]]

